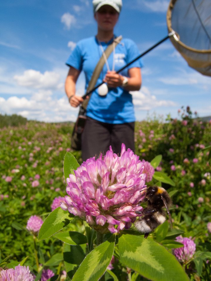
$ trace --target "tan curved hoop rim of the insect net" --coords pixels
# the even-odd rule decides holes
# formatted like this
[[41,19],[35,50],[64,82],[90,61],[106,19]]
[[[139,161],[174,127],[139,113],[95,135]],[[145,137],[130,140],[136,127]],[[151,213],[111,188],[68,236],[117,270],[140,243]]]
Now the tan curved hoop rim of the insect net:
[[[171,0],[169,3],[169,7],[166,13],[166,22],[167,22],[167,28],[168,28],[168,32],[175,34],[175,31],[173,30],[173,28],[171,27],[171,11],[173,9],[174,4],[176,3],[177,0]],[[211,49],[202,49],[202,50],[198,50],[192,47],[187,46],[186,44],[184,44],[182,41],[179,40],[175,40],[174,38],[172,38],[173,36],[170,36],[171,42],[172,43],[176,43],[181,45],[183,48],[186,48],[188,51],[192,51],[192,52],[196,52],[196,53],[201,53],[201,54],[211,54]]]

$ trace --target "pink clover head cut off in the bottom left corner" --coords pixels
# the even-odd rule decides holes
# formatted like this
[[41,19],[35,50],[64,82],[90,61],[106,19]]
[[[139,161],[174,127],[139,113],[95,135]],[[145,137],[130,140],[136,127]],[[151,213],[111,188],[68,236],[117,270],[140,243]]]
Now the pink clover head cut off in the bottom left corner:
[[1,281],[34,281],[34,276],[30,273],[29,267],[17,265],[14,268],[0,270]]

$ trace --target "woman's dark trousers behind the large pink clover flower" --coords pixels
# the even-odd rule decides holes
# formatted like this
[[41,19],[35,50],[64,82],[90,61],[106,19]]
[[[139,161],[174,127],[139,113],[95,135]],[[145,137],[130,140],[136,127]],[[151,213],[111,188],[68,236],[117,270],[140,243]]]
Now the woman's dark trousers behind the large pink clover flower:
[[108,124],[87,117],[82,133],[82,160],[98,157],[101,152],[105,154],[110,145],[113,152],[119,155],[122,143],[125,144],[126,150],[130,148],[134,151],[134,127],[135,122]]

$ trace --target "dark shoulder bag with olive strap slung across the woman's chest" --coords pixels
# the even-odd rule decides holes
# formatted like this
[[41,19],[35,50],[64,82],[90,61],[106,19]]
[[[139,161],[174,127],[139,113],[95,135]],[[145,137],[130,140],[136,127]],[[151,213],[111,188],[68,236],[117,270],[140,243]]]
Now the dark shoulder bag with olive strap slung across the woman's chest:
[[[122,40],[122,36],[120,35],[119,37],[114,39],[115,46],[119,44],[119,42]],[[108,45],[108,47],[105,50],[105,55],[106,58],[109,57],[111,52],[113,51],[113,43]],[[101,56],[100,60],[98,61],[98,64],[95,67],[95,70],[93,71],[91,80],[89,81],[89,85],[87,87],[86,92],[89,92],[89,98],[85,99],[82,104],[80,104],[80,109],[79,109],[79,115],[76,120],[76,123],[73,128],[73,133],[72,133],[72,138],[71,138],[71,148],[73,150],[81,150],[81,135],[84,131],[84,127],[86,124],[86,107],[88,105],[89,99],[90,99],[90,93],[92,92],[96,81],[101,73],[101,70],[103,68],[103,65],[105,64],[105,59],[103,55]],[[91,90],[92,89],[92,90]]]

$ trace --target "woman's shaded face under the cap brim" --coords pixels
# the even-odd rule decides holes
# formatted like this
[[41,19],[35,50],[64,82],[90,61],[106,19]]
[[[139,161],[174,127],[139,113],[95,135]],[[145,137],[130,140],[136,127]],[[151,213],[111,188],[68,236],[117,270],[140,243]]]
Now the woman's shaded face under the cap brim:
[[110,5],[103,5],[95,13],[94,18],[97,21],[98,28],[104,31],[113,30],[118,21],[118,12]]

